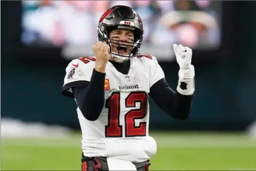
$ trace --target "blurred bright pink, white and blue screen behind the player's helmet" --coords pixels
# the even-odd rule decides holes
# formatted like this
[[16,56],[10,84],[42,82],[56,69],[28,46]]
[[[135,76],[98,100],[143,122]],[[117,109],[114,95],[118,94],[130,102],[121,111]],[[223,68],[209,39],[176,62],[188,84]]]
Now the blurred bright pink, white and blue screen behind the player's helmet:
[[[217,5],[214,5],[217,4]],[[211,1],[23,1],[22,41],[81,45],[96,41],[100,16],[114,5],[141,15],[145,44],[180,43],[210,48],[219,44],[218,2]]]

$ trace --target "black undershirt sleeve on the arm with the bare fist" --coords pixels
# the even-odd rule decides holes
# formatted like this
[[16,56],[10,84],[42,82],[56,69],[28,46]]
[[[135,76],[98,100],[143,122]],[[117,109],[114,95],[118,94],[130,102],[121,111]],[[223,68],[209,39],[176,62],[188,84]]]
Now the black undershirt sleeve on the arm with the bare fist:
[[73,96],[84,118],[96,121],[104,106],[104,80],[106,73],[94,69],[91,80],[83,85],[72,87]]

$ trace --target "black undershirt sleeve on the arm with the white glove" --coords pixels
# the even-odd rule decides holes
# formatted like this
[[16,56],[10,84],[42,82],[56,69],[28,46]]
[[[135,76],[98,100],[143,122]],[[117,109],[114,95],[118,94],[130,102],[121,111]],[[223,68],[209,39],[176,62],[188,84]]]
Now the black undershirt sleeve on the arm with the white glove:
[[193,95],[174,92],[164,78],[152,85],[150,96],[157,106],[175,119],[187,119],[191,112]]

